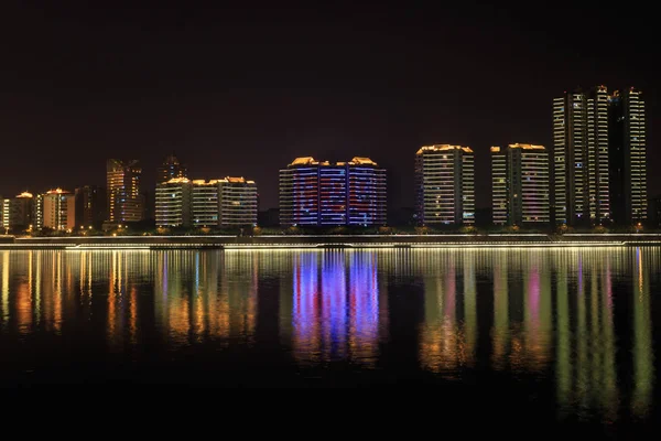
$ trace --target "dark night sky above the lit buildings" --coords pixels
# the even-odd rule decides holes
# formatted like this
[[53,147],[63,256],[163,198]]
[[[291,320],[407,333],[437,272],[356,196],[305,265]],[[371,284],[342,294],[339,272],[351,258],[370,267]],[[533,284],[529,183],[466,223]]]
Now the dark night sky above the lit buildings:
[[551,147],[553,97],[596,84],[644,93],[661,193],[655,15],[639,2],[316,3],[1,2],[0,194],[105,184],[107,158],[141,160],[153,186],[175,151],[192,178],[254,179],[268,208],[295,157],[365,155],[411,206],[418,148],[454,143],[475,150],[488,206],[489,147]]

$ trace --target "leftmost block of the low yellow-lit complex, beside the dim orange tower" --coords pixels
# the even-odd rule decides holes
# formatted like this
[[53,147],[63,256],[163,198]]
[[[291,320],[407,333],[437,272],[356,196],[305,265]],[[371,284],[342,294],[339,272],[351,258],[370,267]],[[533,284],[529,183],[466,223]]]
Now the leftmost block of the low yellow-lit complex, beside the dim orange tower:
[[156,184],[156,226],[191,225],[191,187],[192,183],[186,178],[173,178]]

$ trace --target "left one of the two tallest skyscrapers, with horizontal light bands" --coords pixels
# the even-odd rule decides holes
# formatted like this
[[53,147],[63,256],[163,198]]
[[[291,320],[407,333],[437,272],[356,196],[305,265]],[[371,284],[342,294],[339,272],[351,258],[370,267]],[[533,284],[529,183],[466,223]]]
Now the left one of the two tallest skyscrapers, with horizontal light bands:
[[610,219],[608,92],[598,86],[553,100],[553,206],[557,224]]

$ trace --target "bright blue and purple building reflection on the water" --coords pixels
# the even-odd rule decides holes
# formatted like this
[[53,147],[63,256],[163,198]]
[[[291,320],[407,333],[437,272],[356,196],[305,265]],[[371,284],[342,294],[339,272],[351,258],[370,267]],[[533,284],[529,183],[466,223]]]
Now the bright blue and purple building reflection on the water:
[[[373,366],[386,338],[387,310],[371,252],[293,256],[292,289],[281,291],[282,341],[301,363],[349,359]],[[292,298],[292,301],[288,301]],[[291,342],[291,343],[290,343]]]

